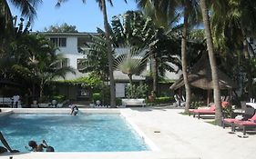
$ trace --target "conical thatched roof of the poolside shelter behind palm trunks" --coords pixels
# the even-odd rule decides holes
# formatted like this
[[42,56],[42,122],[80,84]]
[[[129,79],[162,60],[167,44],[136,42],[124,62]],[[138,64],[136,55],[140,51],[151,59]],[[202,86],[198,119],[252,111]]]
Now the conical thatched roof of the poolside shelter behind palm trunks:
[[[220,69],[217,68],[219,75],[220,89],[236,88],[236,84],[230,79],[228,75],[225,75]],[[209,90],[213,89],[210,61],[208,56],[203,55],[197,64],[195,64],[188,75],[189,84],[201,89]],[[170,89],[178,89],[184,85],[183,77],[180,77],[178,81],[170,86]]]

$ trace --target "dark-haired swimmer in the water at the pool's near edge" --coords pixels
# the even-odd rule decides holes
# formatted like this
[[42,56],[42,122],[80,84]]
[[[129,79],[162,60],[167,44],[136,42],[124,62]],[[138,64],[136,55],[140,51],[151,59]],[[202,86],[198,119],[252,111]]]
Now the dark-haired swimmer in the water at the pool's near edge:
[[42,144],[36,144],[36,141],[31,140],[28,142],[28,145],[32,148],[29,149],[26,146],[26,149],[33,152],[44,152],[44,148],[46,148],[46,152],[55,152],[55,149],[52,146],[46,144],[46,141],[43,140]]

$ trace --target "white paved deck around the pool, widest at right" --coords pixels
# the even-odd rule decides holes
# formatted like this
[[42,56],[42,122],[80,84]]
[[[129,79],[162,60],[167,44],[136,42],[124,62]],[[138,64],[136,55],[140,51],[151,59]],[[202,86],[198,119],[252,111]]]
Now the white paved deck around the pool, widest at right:
[[[22,108],[25,111],[24,108]],[[47,109],[41,109],[46,111]],[[39,110],[39,111],[41,111]],[[82,111],[120,111],[129,122],[135,124],[145,139],[149,139],[156,150],[146,152],[114,153],[26,153],[11,154],[14,159],[247,159],[255,158],[256,134],[240,138],[229,134],[230,128],[205,123],[202,119],[179,114],[182,109],[124,108],[83,109]],[[38,110],[35,109],[37,112]],[[49,110],[51,113],[54,109]],[[57,109],[60,111],[60,109]],[[61,109],[69,112],[69,109]],[[15,109],[18,112],[18,109]],[[157,133],[156,133],[157,132]],[[9,158],[1,154],[0,158]]]

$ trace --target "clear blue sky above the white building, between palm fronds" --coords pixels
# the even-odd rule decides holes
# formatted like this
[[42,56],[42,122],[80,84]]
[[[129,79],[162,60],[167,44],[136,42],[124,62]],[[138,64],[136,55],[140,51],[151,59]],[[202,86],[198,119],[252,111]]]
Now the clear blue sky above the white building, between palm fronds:
[[[87,0],[86,4],[82,0],[69,0],[56,8],[57,0],[44,0],[42,5],[37,7],[37,16],[32,25],[32,30],[44,31],[50,25],[76,25],[78,32],[95,33],[97,27],[104,28],[103,15],[96,0]],[[108,4],[108,3],[107,3]],[[107,5],[108,21],[113,15],[122,15],[128,10],[137,10],[135,0],[114,0],[113,7]],[[20,17],[20,12],[12,5],[13,15]]]

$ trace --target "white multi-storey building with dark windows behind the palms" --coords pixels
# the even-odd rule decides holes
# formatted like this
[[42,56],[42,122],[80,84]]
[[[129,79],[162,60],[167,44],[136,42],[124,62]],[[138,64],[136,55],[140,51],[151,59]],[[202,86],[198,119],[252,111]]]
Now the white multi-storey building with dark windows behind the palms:
[[[80,50],[87,50],[87,45],[89,41],[89,35],[97,35],[96,33],[40,33],[45,35],[46,38],[50,39],[59,50],[56,51],[56,54],[62,54],[65,57],[65,60],[61,65],[71,66],[77,71],[76,75],[68,74],[67,79],[76,79],[87,74],[82,74],[78,72],[78,61],[87,58],[87,55],[80,53]],[[122,53],[123,49],[117,48],[117,53]],[[146,72],[145,72],[146,74]],[[133,81],[144,81],[144,75],[133,75]],[[168,73],[166,75],[168,79],[176,80],[179,78],[179,75],[174,73]],[[114,78],[116,81],[116,95],[117,97],[125,97],[125,86],[128,84],[128,75],[121,73],[120,71],[114,71]],[[78,91],[77,91],[78,89]],[[79,90],[80,89],[80,90]],[[87,94],[85,90],[81,88],[69,88],[69,90],[62,90],[61,92],[66,92],[66,94],[72,98],[77,99],[77,97]]]

